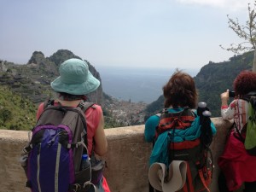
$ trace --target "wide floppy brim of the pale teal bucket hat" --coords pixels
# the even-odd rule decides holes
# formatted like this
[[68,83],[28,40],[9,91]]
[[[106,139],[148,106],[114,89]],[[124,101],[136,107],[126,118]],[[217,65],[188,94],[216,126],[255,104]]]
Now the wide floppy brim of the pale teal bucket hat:
[[101,82],[88,72],[88,79],[82,84],[65,84],[61,81],[61,76],[50,83],[56,92],[64,92],[72,95],[86,95],[95,91]]

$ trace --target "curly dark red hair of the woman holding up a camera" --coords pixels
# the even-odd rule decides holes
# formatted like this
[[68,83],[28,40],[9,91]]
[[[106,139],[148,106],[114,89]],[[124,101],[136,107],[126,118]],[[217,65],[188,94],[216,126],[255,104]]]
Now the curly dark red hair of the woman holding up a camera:
[[239,73],[233,83],[236,96],[244,96],[250,91],[256,90],[256,73],[251,71],[242,71]]

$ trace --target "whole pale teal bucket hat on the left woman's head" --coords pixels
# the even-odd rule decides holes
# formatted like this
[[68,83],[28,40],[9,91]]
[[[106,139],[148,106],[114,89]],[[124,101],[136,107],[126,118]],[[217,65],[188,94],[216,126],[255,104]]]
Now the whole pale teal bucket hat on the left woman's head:
[[56,92],[72,95],[86,95],[96,90],[100,81],[93,77],[87,63],[79,59],[69,59],[61,63],[60,77],[50,83]]

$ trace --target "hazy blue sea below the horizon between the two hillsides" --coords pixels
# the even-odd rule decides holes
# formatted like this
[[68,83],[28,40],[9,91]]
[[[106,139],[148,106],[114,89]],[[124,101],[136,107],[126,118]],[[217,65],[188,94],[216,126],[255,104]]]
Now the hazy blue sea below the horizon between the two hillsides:
[[[109,96],[131,102],[151,103],[162,95],[162,87],[175,68],[96,67],[102,79],[102,89]],[[195,77],[199,69],[183,70]]]

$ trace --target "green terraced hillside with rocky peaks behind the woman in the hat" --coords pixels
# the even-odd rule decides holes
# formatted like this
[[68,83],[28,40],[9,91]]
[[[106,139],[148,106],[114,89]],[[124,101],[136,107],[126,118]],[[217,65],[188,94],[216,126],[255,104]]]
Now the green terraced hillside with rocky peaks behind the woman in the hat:
[[[59,49],[49,57],[45,57],[41,51],[34,51],[26,64],[15,64],[0,60],[0,87],[3,89],[1,90],[2,100],[0,102],[0,107],[3,108],[0,113],[2,115],[0,117],[1,129],[30,130],[32,128],[35,123],[34,118],[38,104],[49,98],[55,98],[55,92],[49,84],[59,75],[58,68],[60,64],[70,58],[81,59],[70,50]],[[96,79],[102,81],[96,68],[89,61],[86,62],[90,73]],[[96,91],[88,94],[87,98],[90,102],[96,102],[102,106],[105,128],[127,124],[127,118],[116,118],[113,113],[110,113],[113,99],[103,93],[102,84]],[[16,104],[15,111],[20,111],[20,113],[14,113],[13,106],[6,104],[14,101]],[[25,119],[26,123],[24,123]],[[131,125],[133,125],[133,122],[131,122]]]

